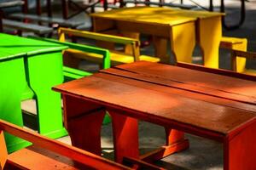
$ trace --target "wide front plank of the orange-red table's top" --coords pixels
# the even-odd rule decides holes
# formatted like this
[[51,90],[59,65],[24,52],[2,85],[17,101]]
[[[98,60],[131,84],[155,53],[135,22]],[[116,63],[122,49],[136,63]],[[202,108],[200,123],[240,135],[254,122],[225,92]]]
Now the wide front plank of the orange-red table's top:
[[[189,127],[203,128],[215,133],[230,133],[255,117],[253,112],[138,88],[96,76],[67,82],[54,90],[121,110],[126,108],[137,111],[136,116],[146,117],[148,122],[162,118],[168,121],[170,126],[175,123],[177,126],[189,124]],[[129,113],[129,116],[132,114]]]

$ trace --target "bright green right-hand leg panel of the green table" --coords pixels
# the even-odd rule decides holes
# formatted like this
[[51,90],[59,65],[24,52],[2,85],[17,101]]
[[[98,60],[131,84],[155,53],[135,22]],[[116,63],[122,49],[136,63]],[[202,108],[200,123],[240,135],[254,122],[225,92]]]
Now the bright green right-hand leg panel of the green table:
[[37,99],[38,132],[54,139],[67,135],[62,122],[61,94],[51,90],[63,82],[61,52],[29,56],[26,67]]

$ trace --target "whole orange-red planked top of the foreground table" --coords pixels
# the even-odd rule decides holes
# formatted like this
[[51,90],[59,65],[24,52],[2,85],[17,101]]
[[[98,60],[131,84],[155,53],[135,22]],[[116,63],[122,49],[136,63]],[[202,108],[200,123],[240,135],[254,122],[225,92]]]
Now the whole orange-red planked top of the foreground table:
[[[256,83],[183,67],[136,62],[54,88],[140,116],[228,134],[256,118]],[[151,117],[151,118],[148,118]]]

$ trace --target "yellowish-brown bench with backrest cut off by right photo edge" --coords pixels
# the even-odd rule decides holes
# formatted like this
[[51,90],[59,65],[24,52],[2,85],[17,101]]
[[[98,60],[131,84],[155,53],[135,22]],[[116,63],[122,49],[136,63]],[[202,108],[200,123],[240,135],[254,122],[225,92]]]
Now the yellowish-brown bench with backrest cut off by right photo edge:
[[[231,67],[232,67],[233,71],[237,71],[237,66],[240,66],[240,63],[237,62],[238,57],[242,58],[242,59],[254,59],[254,60],[256,60],[256,53],[245,52],[245,51],[240,51],[240,50],[232,50],[232,52],[231,52],[231,59],[232,59]],[[256,70],[253,70],[253,69],[244,68],[242,73],[256,76]]]

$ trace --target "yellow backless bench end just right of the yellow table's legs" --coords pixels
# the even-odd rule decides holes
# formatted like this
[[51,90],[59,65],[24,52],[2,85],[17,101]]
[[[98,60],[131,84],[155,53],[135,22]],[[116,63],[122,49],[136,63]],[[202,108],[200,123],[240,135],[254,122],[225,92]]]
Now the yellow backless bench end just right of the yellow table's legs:
[[[220,48],[232,50],[247,51],[247,39],[238,37],[222,37],[219,45]],[[246,71],[246,58],[236,56],[236,71]]]

